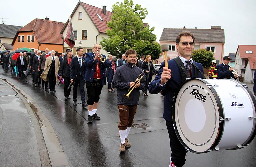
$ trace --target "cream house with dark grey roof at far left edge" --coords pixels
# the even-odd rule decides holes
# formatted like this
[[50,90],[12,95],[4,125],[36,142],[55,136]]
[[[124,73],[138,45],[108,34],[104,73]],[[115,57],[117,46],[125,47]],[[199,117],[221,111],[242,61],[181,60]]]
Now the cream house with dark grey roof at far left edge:
[[21,26],[0,24],[0,50],[13,50],[11,43],[17,31],[21,28]]

